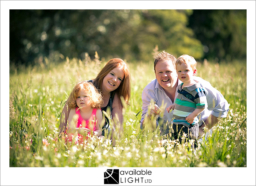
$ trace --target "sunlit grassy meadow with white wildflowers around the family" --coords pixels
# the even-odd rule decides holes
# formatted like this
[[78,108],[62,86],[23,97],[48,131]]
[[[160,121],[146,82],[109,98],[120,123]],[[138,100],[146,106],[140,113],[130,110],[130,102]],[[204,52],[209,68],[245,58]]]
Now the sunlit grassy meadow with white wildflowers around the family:
[[[230,104],[227,118],[193,152],[190,144],[141,131],[141,94],[155,78],[153,62],[129,63],[130,106],[125,110],[123,135],[112,147],[109,139],[91,138],[86,147],[58,139],[59,118],[73,86],[96,77],[106,61],[66,59],[18,70],[10,66],[10,167],[246,167],[246,62],[198,63],[197,76],[209,81]],[[20,68],[20,67],[19,67]],[[137,113],[139,113],[137,115]]]

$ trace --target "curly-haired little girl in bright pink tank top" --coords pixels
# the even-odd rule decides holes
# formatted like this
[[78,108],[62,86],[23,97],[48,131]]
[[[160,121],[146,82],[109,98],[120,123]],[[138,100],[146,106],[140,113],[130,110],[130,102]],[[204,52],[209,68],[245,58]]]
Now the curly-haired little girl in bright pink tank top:
[[75,85],[67,103],[71,109],[68,118],[69,141],[72,141],[76,131],[78,136],[75,143],[79,144],[89,135],[101,135],[102,103],[102,95],[92,83],[83,81]]

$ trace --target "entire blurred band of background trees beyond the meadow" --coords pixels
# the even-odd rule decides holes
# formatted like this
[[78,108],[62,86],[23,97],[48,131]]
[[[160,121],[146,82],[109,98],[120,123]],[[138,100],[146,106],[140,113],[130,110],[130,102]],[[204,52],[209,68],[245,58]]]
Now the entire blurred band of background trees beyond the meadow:
[[83,60],[95,51],[107,60],[152,61],[156,45],[176,57],[246,55],[246,46],[241,48],[246,11],[197,11],[10,10],[10,63],[35,65],[44,57],[60,62],[66,56]]

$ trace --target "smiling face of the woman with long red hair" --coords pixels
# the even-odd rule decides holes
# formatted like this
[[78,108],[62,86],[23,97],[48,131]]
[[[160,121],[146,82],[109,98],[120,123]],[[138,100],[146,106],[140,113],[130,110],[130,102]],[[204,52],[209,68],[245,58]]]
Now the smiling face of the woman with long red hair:
[[122,67],[116,67],[111,70],[103,79],[102,92],[111,92],[117,89],[125,77]]

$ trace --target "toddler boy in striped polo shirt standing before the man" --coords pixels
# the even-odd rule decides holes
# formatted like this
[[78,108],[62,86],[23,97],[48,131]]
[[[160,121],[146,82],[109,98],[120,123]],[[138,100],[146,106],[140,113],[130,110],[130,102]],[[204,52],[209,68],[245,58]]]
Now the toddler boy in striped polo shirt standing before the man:
[[166,110],[174,110],[174,138],[181,142],[183,132],[187,134],[186,139],[195,139],[198,137],[198,114],[207,107],[207,100],[204,89],[200,83],[195,82],[193,76],[197,73],[197,62],[194,57],[189,55],[180,56],[175,63],[178,79],[181,80],[178,86],[178,96],[174,104]]

